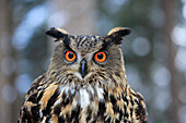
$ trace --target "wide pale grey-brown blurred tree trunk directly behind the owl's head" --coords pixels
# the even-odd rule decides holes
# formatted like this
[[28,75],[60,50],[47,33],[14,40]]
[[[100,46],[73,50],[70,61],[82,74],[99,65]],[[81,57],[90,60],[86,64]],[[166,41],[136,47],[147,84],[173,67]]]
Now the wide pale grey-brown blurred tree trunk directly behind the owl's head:
[[[59,27],[72,35],[94,34],[94,0],[54,0],[50,9],[51,15],[49,20],[53,21],[49,22],[49,26],[60,25]],[[55,16],[59,14],[61,20],[56,20]],[[54,46],[54,42],[49,44],[49,46]]]

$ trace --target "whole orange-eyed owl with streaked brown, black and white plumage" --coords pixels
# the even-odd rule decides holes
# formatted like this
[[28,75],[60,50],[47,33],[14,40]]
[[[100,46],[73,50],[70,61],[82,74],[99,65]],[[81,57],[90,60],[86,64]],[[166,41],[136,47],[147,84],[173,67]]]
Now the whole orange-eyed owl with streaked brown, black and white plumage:
[[106,36],[50,28],[58,42],[48,70],[31,85],[19,123],[147,123],[142,95],[126,78],[120,45],[129,28]]

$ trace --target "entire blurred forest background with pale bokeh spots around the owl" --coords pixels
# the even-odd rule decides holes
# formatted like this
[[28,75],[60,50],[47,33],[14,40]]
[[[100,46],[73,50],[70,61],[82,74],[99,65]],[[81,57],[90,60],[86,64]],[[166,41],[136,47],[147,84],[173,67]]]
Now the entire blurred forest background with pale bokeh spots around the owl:
[[55,48],[49,27],[104,36],[130,27],[123,52],[149,123],[186,123],[186,0],[0,0],[0,123],[15,123]]

